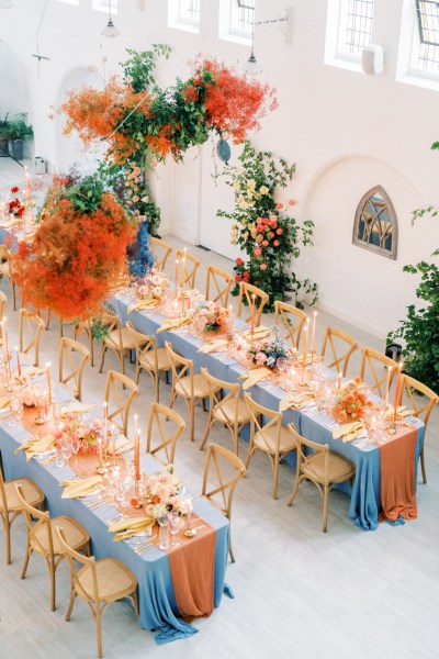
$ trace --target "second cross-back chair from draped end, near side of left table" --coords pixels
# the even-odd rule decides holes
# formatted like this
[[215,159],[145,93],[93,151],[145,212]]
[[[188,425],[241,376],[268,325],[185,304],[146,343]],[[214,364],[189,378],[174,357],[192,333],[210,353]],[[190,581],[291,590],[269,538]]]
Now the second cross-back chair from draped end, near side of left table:
[[[63,548],[54,533],[55,525],[61,525],[70,545],[90,554],[90,534],[79,522],[72,517],[59,515],[50,520],[49,513],[38,511],[25,500],[25,492],[20,483],[15,484],[16,498],[23,509],[27,526],[27,546],[23,569],[20,579],[24,579],[27,571],[29,559],[32,554],[40,554],[46,561],[50,579],[50,611],[56,608],[56,580],[55,574],[59,563],[64,560]],[[33,520],[36,522],[33,524]]]

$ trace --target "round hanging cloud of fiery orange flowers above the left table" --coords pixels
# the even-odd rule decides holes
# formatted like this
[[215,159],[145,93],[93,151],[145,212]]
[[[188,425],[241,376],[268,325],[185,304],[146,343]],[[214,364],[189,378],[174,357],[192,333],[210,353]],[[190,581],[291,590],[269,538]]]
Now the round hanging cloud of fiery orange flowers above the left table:
[[95,177],[55,179],[33,242],[14,257],[25,302],[64,321],[99,315],[135,232],[135,219]]

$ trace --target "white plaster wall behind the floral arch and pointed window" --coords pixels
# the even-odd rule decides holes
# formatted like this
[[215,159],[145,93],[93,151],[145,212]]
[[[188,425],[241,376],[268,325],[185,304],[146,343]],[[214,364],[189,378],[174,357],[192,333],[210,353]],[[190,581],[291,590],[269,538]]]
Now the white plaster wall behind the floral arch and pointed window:
[[[167,27],[166,0],[147,0],[145,11],[135,0],[121,0],[115,23],[116,40],[100,37],[105,14],[80,7],[47,1],[40,32],[40,78],[35,32],[43,0],[15,0],[12,10],[0,10],[0,38],[13,51],[25,71],[30,90],[29,110],[34,120],[38,155],[57,167],[57,136],[47,119],[57,102],[66,75],[74,67],[98,65],[106,75],[117,70],[124,48],[146,48],[166,42],[173,47],[170,60],[160,63],[161,85],[188,74],[188,62],[199,53],[217,55],[228,64],[248,58],[248,48],[217,38],[217,7],[224,0],[203,0],[200,34]],[[360,320],[378,336],[384,336],[405,306],[413,301],[414,278],[403,265],[427,258],[439,244],[439,224],[429,219],[410,227],[413,209],[439,203],[439,156],[429,149],[439,137],[439,94],[395,82],[402,0],[375,0],[373,41],[384,48],[381,76],[368,77],[324,65],[326,2],[290,0],[293,5],[292,44],[286,45],[278,27],[256,31],[256,54],[263,67],[261,79],[278,89],[279,109],[263,120],[254,136],[258,148],[272,150],[297,165],[297,175],[282,199],[297,199],[296,214],[316,223],[316,247],[297,264],[301,275],[315,278],[322,288],[320,305],[347,320]],[[284,0],[258,0],[257,19],[284,14]],[[108,58],[103,71],[102,58]],[[0,69],[1,70],[1,69]],[[22,75],[22,74],[21,74]],[[23,104],[25,94],[23,94]],[[1,110],[0,101],[0,110]],[[192,154],[183,165],[157,168],[157,200],[162,209],[164,233],[173,231],[190,242],[202,241],[218,230],[216,208],[229,208],[233,191],[219,182],[214,189],[209,148],[203,157]],[[194,149],[196,150],[196,149]],[[235,152],[236,157],[236,152]],[[399,221],[398,259],[391,261],[351,245],[354,209],[362,194],[381,183],[391,196]],[[225,221],[223,221],[225,222]],[[226,235],[227,234],[227,235]],[[230,257],[228,228],[217,249]],[[353,289],[353,291],[352,291]]]

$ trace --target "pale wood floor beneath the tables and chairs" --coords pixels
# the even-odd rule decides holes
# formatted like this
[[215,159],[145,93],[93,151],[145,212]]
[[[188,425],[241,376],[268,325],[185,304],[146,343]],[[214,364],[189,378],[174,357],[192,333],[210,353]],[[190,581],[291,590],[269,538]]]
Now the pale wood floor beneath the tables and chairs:
[[[9,160],[9,159],[2,159]],[[15,170],[0,160],[0,191],[13,185]],[[221,222],[213,219],[213,222]],[[170,236],[167,239],[181,245]],[[230,269],[230,261],[196,250],[209,263]],[[199,283],[203,291],[204,286]],[[1,290],[8,292],[7,282]],[[367,314],[367,310],[364,310]],[[16,343],[18,313],[8,308],[11,345]],[[266,322],[266,320],[263,321]],[[350,332],[359,345],[383,349],[384,342],[319,313],[319,345],[325,324]],[[42,361],[57,364],[56,324],[43,335]],[[358,354],[351,373],[358,370]],[[105,371],[116,367],[111,355]],[[128,375],[134,369],[128,367]],[[56,376],[55,368],[53,369]],[[89,368],[85,400],[101,403],[105,375]],[[153,387],[147,376],[135,410],[145,427]],[[164,384],[162,401],[169,390]],[[187,417],[182,405],[177,410]],[[188,489],[201,489],[205,451],[199,450],[205,414],[196,413],[195,442],[180,439],[176,467]],[[404,526],[382,524],[376,532],[357,529],[347,517],[348,499],[330,494],[329,530],[322,533],[322,502],[314,487],[304,484],[293,507],[286,500],[293,482],[289,467],[280,470],[279,500],[271,499],[272,473],[267,459],[252,458],[248,477],[236,493],[233,535],[236,563],[227,569],[235,599],[223,599],[211,618],[195,622],[199,634],[188,640],[157,646],[150,632],[140,629],[126,604],[115,604],[103,616],[106,659],[125,657],[194,657],[264,659],[435,659],[439,651],[439,415],[429,427],[426,459],[429,482],[418,485],[419,518]],[[225,432],[212,439],[229,446]],[[1,447],[0,447],[1,448]],[[240,443],[240,455],[246,445]],[[70,623],[64,622],[69,580],[65,566],[57,573],[57,611],[49,612],[48,578],[38,557],[32,557],[21,581],[25,529],[14,524],[13,563],[4,565],[4,535],[0,532],[0,659],[86,659],[95,656],[94,625],[77,602]]]

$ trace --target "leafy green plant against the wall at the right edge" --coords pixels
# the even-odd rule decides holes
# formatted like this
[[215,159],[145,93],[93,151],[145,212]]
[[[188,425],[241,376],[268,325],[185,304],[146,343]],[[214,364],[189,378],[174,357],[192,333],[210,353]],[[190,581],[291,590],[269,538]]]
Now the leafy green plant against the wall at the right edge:
[[[431,256],[439,255],[436,249]],[[387,335],[387,342],[402,338],[404,371],[439,392],[439,268],[435,263],[420,261],[404,266],[404,271],[420,275],[416,297],[420,306],[407,306],[407,317]]]

